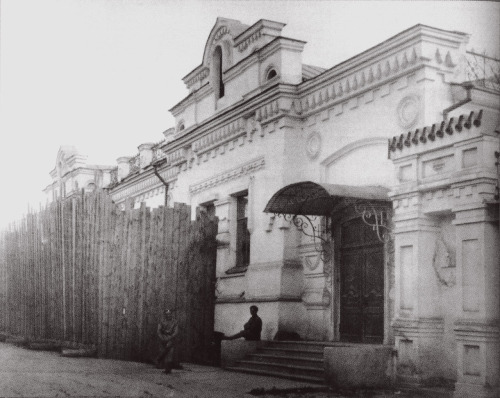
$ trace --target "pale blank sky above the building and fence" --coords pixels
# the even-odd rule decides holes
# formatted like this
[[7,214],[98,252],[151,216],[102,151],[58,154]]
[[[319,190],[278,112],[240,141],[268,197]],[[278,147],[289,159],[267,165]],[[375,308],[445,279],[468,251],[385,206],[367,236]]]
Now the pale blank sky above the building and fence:
[[325,68],[418,23],[500,55],[496,2],[0,0],[0,229],[44,200],[60,146],[116,165],[160,141],[218,16],[286,23]]

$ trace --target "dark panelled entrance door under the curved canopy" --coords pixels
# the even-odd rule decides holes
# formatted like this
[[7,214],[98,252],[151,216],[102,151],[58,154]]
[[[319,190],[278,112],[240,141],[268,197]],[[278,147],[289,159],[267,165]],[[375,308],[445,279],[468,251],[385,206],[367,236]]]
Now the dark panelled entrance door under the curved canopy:
[[384,245],[361,218],[341,226],[340,339],[384,339]]

